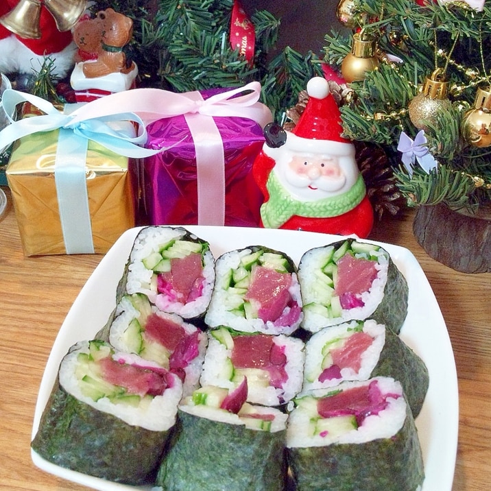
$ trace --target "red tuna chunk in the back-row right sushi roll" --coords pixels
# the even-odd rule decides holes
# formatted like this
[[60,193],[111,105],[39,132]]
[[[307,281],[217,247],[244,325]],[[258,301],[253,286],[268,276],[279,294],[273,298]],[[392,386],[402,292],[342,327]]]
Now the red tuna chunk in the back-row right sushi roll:
[[335,294],[341,297],[344,294],[359,295],[368,291],[377,275],[375,265],[376,261],[344,254],[337,261]]

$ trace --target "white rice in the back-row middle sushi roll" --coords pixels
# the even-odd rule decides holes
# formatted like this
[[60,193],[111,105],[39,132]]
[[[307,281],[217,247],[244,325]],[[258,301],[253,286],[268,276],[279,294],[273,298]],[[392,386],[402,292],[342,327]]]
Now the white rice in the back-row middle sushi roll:
[[[248,256],[252,251],[250,249],[233,250],[220,256],[215,263],[215,288],[211,296],[211,302],[206,311],[205,322],[210,327],[230,326],[235,331],[243,333],[265,333],[265,334],[285,334],[290,335],[296,331],[303,320],[303,313],[294,324],[288,326],[275,326],[274,322],[262,319],[248,319],[237,315],[231,311],[230,305],[233,303],[230,291],[222,285],[224,278],[228,278],[231,270],[236,270],[243,256]],[[228,286],[228,283],[226,283]],[[289,294],[299,307],[302,307],[302,294],[300,292],[300,283],[296,273],[291,273],[291,287]],[[240,302],[240,298],[237,299]],[[288,308],[288,307],[287,307]]]

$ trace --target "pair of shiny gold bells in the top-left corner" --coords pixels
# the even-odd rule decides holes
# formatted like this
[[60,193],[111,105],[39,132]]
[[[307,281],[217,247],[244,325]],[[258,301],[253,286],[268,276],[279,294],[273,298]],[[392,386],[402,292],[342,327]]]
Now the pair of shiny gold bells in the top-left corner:
[[39,39],[43,5],[53,16],[58,31],[65,32],[84,13],[86,0],[21,0],[10,12],[0,17],[0,24],[21,38]]

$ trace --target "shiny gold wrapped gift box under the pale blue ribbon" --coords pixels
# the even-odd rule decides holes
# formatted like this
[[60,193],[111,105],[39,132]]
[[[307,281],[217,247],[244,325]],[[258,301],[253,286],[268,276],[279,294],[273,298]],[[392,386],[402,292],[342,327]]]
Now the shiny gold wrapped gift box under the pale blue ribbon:
[[[26,256],[67,254],[55,182],[59,130],[16,141],[6,174]],[[88,141],[86,184],[96,254],[135,225],[128,157]]]

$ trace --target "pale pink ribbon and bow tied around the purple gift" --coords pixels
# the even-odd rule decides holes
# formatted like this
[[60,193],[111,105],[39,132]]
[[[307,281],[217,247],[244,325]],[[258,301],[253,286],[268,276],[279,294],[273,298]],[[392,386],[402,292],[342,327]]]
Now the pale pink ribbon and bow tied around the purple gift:
[[[134,88],[91,101],[87,114],[84,107],[77,117],[81,119],[106,118],[114,111],[121,114],[127,108],[148,125],[159,119],[184,115],[193,137],[197,170],[197,215],[199,225],[225,223],[225,157],[214,117],[243,117],[256,121],[261,128],[272,121],[272,113],[259,102],[261,84],[250,82],[240,88],[203,99],[197,92],[173,93],[158,88]],[[134,101],[138,101],[135,110]],[[77,117],[73,120],[76,123]]]

